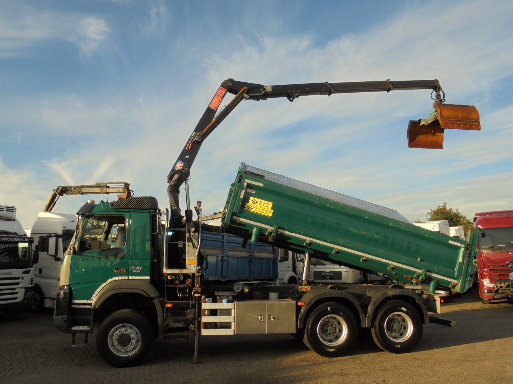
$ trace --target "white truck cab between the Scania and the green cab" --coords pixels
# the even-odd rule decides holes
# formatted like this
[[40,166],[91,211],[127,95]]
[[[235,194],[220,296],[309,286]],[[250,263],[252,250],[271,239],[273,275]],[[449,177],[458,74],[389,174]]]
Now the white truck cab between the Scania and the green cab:
[[64,252],[76,227],[76,215],[39,212],[30,234],[39,254],[34,263],[32,309],[53,308],[58,291],[59,271]]

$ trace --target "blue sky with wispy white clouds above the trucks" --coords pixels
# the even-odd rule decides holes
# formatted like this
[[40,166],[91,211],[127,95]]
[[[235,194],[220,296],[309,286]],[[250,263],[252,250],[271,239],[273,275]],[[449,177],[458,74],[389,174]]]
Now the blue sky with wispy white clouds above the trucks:
[[30,228],[57,185],[128,181],[165,208],[166,176],[230,77],[438,79],[448,103],[478,107],[481,132],[408,148],[430,91],[246,101],[202,146],[191,199],[221,210],[245,162],[412,221],[443,202],[469,218],[513,209],[511,14],[504,1],[0,0],[0,204]]

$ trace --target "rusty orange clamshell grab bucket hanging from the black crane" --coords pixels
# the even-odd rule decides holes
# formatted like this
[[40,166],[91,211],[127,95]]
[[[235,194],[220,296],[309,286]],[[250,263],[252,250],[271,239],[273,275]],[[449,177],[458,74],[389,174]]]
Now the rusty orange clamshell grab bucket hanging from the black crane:
[[428,120],[410,120],[408,147],[441,150],[444,130],[481,131],[479,111],[473,105],[434,103],[436,115]]

